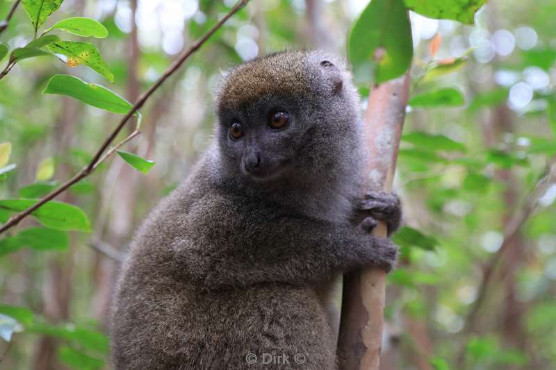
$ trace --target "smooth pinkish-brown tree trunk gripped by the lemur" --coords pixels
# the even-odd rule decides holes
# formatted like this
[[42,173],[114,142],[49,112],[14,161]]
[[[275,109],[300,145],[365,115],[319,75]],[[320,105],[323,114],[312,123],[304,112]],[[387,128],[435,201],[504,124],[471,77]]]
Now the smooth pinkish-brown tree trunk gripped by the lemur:
[[[409,73],[370,91],[365,116],[370,190],[392,189],[408,97]],[[385,224],[379,223],[373,235],[386,237],[386,232]],[[385,277],[380,269],[354,271],[345,276],[338,343],[338,358],[344,370],[379,369]]]

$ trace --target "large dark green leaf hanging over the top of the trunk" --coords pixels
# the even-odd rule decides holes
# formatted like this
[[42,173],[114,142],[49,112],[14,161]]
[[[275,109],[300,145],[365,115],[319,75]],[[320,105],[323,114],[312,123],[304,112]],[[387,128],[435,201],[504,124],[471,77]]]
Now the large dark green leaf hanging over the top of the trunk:
[[413,58],[413,42],[403,1],[371,1],[352,28],[348,55],[356,78],[373,67],[377,84],[404,74]]

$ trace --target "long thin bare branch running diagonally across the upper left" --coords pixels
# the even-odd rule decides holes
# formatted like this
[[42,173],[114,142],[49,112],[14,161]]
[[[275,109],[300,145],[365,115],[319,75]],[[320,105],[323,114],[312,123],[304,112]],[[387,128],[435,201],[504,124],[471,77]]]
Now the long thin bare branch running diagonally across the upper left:
[[40,206],[44,205],[44,203],[47,203],[48,201],[51,201],[52,199],[56,198],[56,196],[58,196],[60,193],[67,190],[68,187],[70,187],[70,186],[74,185],[75,183],[79,182],[79,180],[81,180],[82,178],[85,178],[85,177],[89,176],[92,173],[92,171],[95,169],[97,164],[100,162],[101,158],[103,158],[104,151],[106,151],[108,146],[110,146],[110,144],[114,141],[115,137],[117,137],[117,135],[120,133],[120,131],[122,131],[122,128],[124,128],[127,121],[129,121],[129,119],[131,117],[133,117],[133,114],[135,112],[137,112],[145,104],[145,101],[147,101],[147,99],[149,99],[149,96],[151,96],[158,89],[158,87],[161,87],[161,85],[164,83],[164,81],[166,81],[167,78],[172,76],[172,74],[174,74],[174,72],[176,72],[177,69],[179,69],[179,67],[181,67],[181,65],[183,65],[183,62],[188,60],[189,57],[193,53],[195,53],[195,51],[197,51],[200,47],[202,47],[202,45],[206,42],[206,40],[208,40],[209,37],[211,37],[216,31],[218,31],[218,29],[220,27],[222,27],[222,25],[232,15],[236,14],[236,12],[238,12],[238,10],[243,8],[243,6],[245,6],[245,4],[248,1],[249,0],[240,0],[240,1],[238,1],[236,3],[236,5],[233,8],[231,8],[231,10],[226,15],[224,15],[224,17],[222,19],[220,19],[220,21],[218,23],[216,23],[201,38],[199,38],[199,40],[195,41],[189,49],[187,49],[186,51],[183,51],[183,53],[181,53],[179,58],[177,58],[177,60],[175,60],[169,67],[167,67],[165,72],[162,74],[162,76],[160,78],[158,78],[158,80],[156,80],[154,85],[149,87],[149,89],[147,91],[145,91],[141,96],[139,96],[139,99],[136,101],[136,103],[133,105],[133,107],[129,110],[129,112],[127,112],[126,115],[122,118],[120,123],[116,126],[116,128],[112,131],[112,133],[108,136],[108,138],[106,138],[106,140],[104,140],[104,143],[100,146],[100,148],[97,150],[97,153],[95,153],[95,156],[92,158],[92,160],[89,162],[89,164],[86,167],[81,169],[81,171],[79,171],[74,177],[70,178],[70,180],[67,180],[65,183],[63,183],[63,185],[60,185],[60,187],[58,187],[56,190],[54,190],[54,191],[50,192],[49,194],[47,194],[46,196],[42,197],[42,199],[40,199],[40,201],[35,203],[33,206],[27,208],[26,210],[24,210],[22,212],[19,212],[17,215],[14,215],[14,216],[10,217],[10,219],[8,219],[8,222],[6,222],[6,224],[3,224],[3,226],[0,228],[0,234],[4,233],[6,230],[8,230],[10,228],[13,228],[13,226],[16,226],[17,224],[19,224],[19,221],[22,221],[22,219],[24,219],[28,215],[31,215],[31,213],[34,212],[35,210],[38,210],[38,208],[40,208]]

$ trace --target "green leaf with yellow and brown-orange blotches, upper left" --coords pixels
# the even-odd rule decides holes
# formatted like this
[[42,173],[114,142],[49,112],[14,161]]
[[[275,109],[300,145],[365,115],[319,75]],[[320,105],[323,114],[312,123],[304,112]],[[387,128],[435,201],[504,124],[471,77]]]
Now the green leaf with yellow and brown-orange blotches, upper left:
[[93,44],[78,41],[60,41],[47,45],[47,49],[52,53],[66,56],[69,67],[83,64],[104,76],[108,81],[114,82],[114,75],[110,72],[108,65]]

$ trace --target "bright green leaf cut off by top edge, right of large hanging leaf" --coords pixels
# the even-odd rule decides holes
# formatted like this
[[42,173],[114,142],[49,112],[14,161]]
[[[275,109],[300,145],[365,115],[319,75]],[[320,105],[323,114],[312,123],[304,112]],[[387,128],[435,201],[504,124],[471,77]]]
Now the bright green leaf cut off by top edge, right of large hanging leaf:
[[473,24],[475,12],[486,0],[404,0],[409,10],[429,18],[454,19]]

